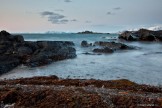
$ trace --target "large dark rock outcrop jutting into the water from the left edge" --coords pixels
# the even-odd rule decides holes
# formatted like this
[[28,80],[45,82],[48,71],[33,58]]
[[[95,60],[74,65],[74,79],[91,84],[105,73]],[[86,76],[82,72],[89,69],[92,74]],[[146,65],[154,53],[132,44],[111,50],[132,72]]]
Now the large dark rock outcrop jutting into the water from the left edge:
[[69,41],[24,41],[21,35],[0,32],[0,75],[20,64],[41,66],[52,61],[76,57]]

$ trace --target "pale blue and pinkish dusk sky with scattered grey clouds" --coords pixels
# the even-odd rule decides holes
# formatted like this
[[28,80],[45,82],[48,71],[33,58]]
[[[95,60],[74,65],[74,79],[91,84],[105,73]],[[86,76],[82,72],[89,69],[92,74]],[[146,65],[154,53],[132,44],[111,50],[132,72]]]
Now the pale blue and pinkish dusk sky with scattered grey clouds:
[[0,30],[119,32],[162,26],[162,0],[0,0]]

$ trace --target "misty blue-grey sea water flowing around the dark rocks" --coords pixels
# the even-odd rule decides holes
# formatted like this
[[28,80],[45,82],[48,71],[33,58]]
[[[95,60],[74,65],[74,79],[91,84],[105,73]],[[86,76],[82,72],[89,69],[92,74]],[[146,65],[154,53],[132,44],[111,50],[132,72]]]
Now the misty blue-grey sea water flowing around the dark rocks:
[[[57,75],[61,78],[78,79],[129,79],[131,81],[162,85],[162,43],[160,42],[124,42],[137,46],[137,50],[118,51],[113,54],[85,55],[93,47],[82,48],[81,41],[114,41],[117,34],[23,34],[26,41],[50,40],[73,41],[77,57],[50,65],[29,68],[18,66],[3,74],[0,79]],[[118,41],[118,40],[116,40]]]

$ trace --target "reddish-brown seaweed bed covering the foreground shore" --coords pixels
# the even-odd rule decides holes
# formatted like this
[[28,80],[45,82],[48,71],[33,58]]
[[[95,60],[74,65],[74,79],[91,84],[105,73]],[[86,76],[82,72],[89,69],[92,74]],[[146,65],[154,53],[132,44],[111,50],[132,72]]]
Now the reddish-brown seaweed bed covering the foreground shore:
[[126,79],[21,78],[0,81],[0,102],[0,108],[161,108],[162,88]]

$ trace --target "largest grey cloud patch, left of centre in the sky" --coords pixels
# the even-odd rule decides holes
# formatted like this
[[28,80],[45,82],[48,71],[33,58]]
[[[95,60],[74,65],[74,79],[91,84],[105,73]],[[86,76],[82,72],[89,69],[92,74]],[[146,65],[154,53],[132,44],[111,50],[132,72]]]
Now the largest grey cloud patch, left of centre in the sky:
[[70,21],[72,22],[77,21],[76,19],[72,19],[72,20],[66,19],[66,16],[55,12],[50,12],[50,11],[42,12],[41,16],[47,17],[48,21],[51,22],[52,24],[66,24]]

